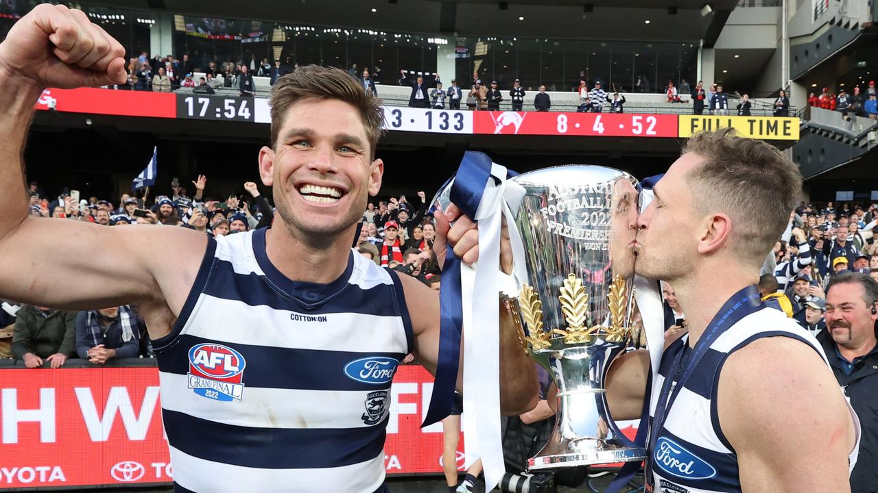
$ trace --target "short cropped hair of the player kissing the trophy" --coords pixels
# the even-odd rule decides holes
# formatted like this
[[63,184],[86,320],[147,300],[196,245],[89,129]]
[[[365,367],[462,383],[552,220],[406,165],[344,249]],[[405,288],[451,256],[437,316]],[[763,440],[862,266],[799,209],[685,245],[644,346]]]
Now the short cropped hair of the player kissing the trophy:
[[802,192],[799,168],[776,147],[733,128],[694,134],[683,147],[687,153],[703,160],[688,174],[695,209],[728,213],[735,225],[732,248],[761,265]]

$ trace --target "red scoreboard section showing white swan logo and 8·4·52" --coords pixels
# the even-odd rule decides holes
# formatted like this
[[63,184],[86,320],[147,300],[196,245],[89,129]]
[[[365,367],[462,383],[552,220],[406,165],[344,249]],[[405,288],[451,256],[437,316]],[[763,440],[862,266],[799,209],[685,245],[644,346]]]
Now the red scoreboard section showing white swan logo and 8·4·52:
[[578,135],[590,137],[677,137],[677,115],[474,111],[473,133]]

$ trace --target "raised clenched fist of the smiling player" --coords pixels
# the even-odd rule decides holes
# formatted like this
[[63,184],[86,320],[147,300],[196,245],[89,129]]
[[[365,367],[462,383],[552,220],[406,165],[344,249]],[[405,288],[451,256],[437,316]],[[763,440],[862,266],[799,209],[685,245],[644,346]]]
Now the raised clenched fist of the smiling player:
[[79,10],[40,4],[0,43],[0,72],[31,89],[123,84],[125,48]]

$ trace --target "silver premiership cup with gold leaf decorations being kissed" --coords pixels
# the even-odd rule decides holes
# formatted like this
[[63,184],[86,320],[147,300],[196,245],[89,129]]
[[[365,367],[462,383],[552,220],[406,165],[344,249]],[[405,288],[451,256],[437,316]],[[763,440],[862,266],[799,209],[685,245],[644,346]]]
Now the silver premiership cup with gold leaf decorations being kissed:
[[[634,239],[637,180],[613,168],[544,168],[514,181],[526,195],[515,226],[528,279],[502,306],[520,322],[529,352],[558,386],[549,443],[530,470],[642,461],[608,410],[610,363],[637,345]],[[512,226],[510,226],[512,227]],[[502,298],[502,296],[501,296]]]

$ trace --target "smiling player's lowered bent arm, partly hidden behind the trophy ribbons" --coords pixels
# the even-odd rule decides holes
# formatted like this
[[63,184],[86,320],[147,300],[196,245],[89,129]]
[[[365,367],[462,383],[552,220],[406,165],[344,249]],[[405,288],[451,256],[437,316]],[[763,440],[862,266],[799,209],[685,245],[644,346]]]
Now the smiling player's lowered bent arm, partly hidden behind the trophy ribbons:
[[[414,277],[399,275],[399,278],[412,318],[415,357],[435,375],[439,357],[439,296]],[[522,351],[517,330],[507,311],[500,308],[500,411],[507,416],[532,410],[539,396],[534,363]],[[458,391],[463,389],[463,361],[461,347]]]

